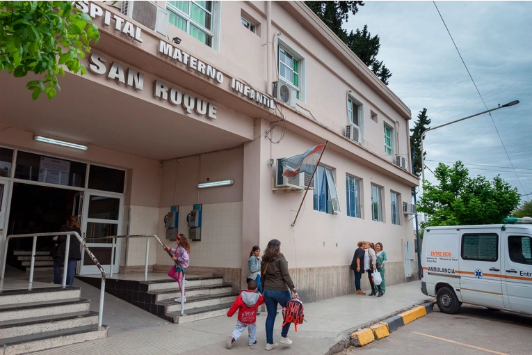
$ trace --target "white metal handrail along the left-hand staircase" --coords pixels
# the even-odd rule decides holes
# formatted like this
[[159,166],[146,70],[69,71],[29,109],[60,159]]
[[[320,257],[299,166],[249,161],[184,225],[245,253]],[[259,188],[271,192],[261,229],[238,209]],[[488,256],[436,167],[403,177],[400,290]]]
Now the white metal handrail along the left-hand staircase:
[[[30,267],[30,283],[33,283],[33,268],[35,267],[35,248],[37,247],[37,237],[47,237],[51,235],[66,235],[67,240],[65,245],[65,262],[63,266],[63,287],[66,287],[67,285],[67,269],[68,269],[68,253],[70,251],[70,236],[75,235],[76,238],[79,240],[81,245],[83,245],[83,248],[85,248],[85,251],[90,256],[92,261],[95,263],[95,265],[98,267],[99,271],[102,273],[102,286],[100,287],[99,292],[99,313],[98,313],[98,327],[102,326],[102,316],[104,314],[104,294],[105,294],[105,270],[102,267],[102,265],[99,264],[97,258],[94,254],[92,254],[92,251],[88,248],[87,244],[83,242],[83,239],[78,234],[78,232],[70,231],[70,232],[51,232],[51,233],[33,233],[33,234],[18,234],[18,235],[8,235],[6,238],[6,243],[3,246],[3,262],[2,262],[2,275],[1,279],[3,280],[3,276],[6,274],[6,261],[8,258],[8,243],[9,239],[11,238],[23,238],[23,237],[33,237],[33,246],[31,247],[31,267]],[[111,259],[113,260],[113,259]],[[111,266],[111,270],[113,267]]]

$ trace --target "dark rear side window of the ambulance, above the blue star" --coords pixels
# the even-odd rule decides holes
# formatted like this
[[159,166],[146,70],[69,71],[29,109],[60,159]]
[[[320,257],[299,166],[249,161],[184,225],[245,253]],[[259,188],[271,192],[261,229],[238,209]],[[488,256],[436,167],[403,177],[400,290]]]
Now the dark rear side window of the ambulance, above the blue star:
[[462,259],[478,261],[497,261],[499,235],[465,234],[462,235]]

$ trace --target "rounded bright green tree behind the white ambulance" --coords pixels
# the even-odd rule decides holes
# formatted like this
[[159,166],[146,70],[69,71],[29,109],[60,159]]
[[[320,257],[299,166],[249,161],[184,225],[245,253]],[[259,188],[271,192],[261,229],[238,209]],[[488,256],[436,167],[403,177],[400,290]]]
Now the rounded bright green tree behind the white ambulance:
[[499,178],[490,182],[483,176],[469,177],[461,161],[449,167],[442,163],[435,169],[438,185],[425,182],[424,194],[417,205],[428,215],[426,226],[458,226],[502,223],[519,205],[517,188]]

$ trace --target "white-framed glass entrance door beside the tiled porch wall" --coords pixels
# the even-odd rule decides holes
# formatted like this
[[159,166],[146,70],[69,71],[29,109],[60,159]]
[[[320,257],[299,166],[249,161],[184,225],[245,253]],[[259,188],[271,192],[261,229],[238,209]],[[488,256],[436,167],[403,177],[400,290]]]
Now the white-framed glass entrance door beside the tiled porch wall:
[[[113,239],[109,235],[122,234],[122,214],[124,212],[124,198],[117,194],[102,191],[87,191],[83,198],[83,238],[90,251],[104,267],[106,273],[118,272],[120,267],[120,239],[115,244],[115,255],[111,260]],[[80,275],[99,274],[92,259],[83,251]]]

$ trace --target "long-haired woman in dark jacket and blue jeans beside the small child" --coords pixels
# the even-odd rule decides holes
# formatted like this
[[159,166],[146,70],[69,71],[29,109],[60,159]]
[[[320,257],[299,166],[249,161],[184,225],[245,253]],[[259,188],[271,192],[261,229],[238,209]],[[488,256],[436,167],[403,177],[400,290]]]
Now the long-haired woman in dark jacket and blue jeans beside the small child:
[[[275,349],[277,342],[273,342],[273,324],[277,315],[277,305],[287,306],[288,301],[298,297],[296,288],[288,271],[288,262],[281,253],[281,242],[272,239],[268,242],[262,255],[261,283],[264,289],[264,301],[268,317],[266,317],[266,350]],[[288,338],[290,323],[284,324],[281,331],[282,344],[291,344]]]

